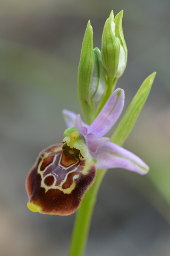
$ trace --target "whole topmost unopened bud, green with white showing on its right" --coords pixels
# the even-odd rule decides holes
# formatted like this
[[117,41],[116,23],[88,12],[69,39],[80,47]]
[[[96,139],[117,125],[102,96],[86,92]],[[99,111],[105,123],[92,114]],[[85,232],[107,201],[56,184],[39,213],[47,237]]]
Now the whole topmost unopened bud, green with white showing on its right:
[[112,11],[103,30],[101,61],[111,80],[123,74],[127,62],[127,47],[123,36],[122,17],[123,11],[119,12],[115,18]]

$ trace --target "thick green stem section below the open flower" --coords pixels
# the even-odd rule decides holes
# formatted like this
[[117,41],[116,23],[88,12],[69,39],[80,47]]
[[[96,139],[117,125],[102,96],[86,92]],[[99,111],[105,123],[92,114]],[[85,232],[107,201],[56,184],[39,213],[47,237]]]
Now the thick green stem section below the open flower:
[[87,191],[83,198],[83,202],[77,211],[71,238],[69,256],[83,255],[88,239],[89,228],[97,199],[98,189],[106,171],[107,170],[97,171],[95,182]]

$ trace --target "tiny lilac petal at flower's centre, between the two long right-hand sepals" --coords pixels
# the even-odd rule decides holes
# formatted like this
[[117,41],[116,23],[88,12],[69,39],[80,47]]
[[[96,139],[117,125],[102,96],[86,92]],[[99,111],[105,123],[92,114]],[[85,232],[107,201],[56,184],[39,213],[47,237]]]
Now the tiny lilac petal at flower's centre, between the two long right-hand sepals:
[[97,137],[96,135],[89,133],[87,134],[88,147],[91,152],[96,152],[97,148],[107,141],[109,138],[107,137]]

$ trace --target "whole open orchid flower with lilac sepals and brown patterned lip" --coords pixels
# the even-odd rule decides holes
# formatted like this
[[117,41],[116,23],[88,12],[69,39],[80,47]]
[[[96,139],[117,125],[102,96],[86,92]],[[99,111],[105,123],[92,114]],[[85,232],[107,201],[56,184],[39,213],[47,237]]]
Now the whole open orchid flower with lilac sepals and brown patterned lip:
[[94,182],[97,169],[148,172],[149,167],[138,156],[103,137],[120,117],[123,106],[124,91],[117,88],[90,125],[82,122],[79,114],[63,110],[68,127],[63,143],[41,151],[27,177],[31,211],[73,213]]

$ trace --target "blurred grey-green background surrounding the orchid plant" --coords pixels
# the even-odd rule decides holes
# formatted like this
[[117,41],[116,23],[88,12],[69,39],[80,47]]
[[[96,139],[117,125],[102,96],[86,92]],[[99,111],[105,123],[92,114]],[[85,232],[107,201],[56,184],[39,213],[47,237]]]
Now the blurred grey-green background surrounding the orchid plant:
[[111,10],[124,10],[128,66],[118,87],[129,106],[157,71],[124,147],[150,166],[146,176],[114,169],[104,178],[86,256],[170,254],[169,0],[1,0],[0,254],[65,256],[75,214],[27,209],[25,178],[39,152],[63,140],[63,108],[80,113],[77,69],[88,20],[101,49]]

